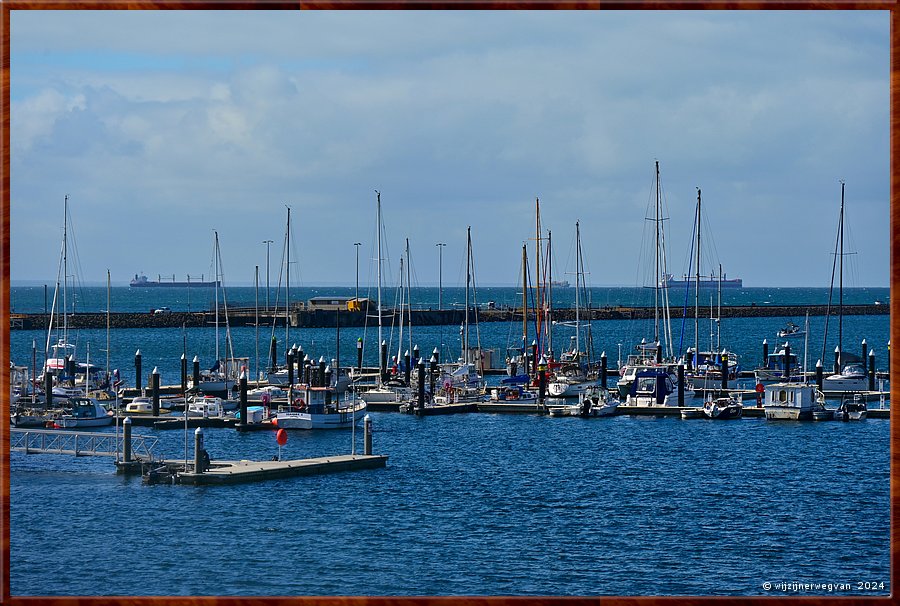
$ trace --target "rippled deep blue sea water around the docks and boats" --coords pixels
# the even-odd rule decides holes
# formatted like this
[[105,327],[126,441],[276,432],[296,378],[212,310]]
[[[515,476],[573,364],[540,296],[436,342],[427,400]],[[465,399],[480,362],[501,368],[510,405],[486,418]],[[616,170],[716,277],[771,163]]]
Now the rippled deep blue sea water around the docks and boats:
[[[85,310],[88,302],[105,308],[105,289],[91,292]],[[131,294],[113,292],[112,307],[119,310]],[[136,309],[179,309],[160,298],[171,293],[154,292],[135,295],[149,297],[134,303],[141,305]],[[515,289],[498,290],[495,300],[504,301],[501,295],[514,304]],[[13,305],[20,310],[36,296],[13,289]],[[827,302],[825,289],[752,296],[773,303]],[[888,292],[854,296],[870,303],[887,301]],[[845,292],[845,302],[849,298]],[[43,289],[39,299],[42,309]],[[452,301],[446,292],[444,301]],[[771,351],[775,332],[788,320],[803,319],[725,319],[721,343],[752,368],[763,339]],[[693,321],[684,324],[682,337],[681,321],[673,322],[676,351],[693,343]],[[810,369],[823,348],[826,358],[834,349],[836,323],[825,343],[823,328],[824,318],[810,318]],[[606,351],[611,367],[620,344],[624,356],[648,331],[652,335],[643,320],[594,322],[591,330],[596,353]],[[701,343],[709,341],[709,332],[709,322],[701,322]],[[253,358],[255,329],[232,333],[235,354]],[[271,327],[260,333],[265,357]],[[366,363],[375,364],[375,333],[372,326],[342,329],[344,364],[355,363],[360,337]],[[846,317],[845,350],[858,353],[866,339],[876,365],[886,368],[888,333],[887,315]],[[274,334],[283,356],[284,328]],[[556,327],[557,350],[572,334]],[[409,348],[407,337],[399,344],[396,331],[388,335],[386,329],[392,354]],[[477,337],[504,356],[519,344],[521,324],[483,323]],[[12,331],[12,359],[30,363],[34,341],[40,363],[45,339],[43,331]],[[79,331],[77,340],[79,352],[90,344],[92,361],[105,363],[105,330]],[[293,329],[291,342],[311,357],[337,353],[334,329]],[[443,359],[455,358],[459,327],[414,326],[416,343],[423,353],[439,347]],[[792,346],[802,356],[802,340]],[[128,384],[136,349],[144,373],[158,366],[163,383],[176,383],[183,351],[189,359],[212,360],[214,331],[112,331],[110,365]],[[370,414],[374,451],[389,456],[386,468],[258,484],[144,486],[139,478],[116,475],[107,458],[12,453],[12,594],[890,593],[887,420]],[[159,439],[157,456],[184,456],[181,431],[135,432]],[[269,459],[278,451],[274,436],[263,432],[207,430],[206,446],[213,459]],[[283,456],[350,449],[351,432],[294,431]]]

